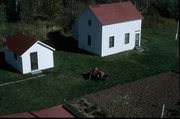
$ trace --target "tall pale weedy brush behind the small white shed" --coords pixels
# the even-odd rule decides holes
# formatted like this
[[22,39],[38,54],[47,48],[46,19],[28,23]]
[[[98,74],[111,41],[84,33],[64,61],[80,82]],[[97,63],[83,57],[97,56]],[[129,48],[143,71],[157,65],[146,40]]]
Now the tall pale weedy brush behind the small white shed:
[[37,40],[47,39],[47,33],[54,30],[61,30],[58,25],[55,26],[52,22],[35,21],[31,24],[26,22],[4,23],[0,24],[0,45],[1,42],[7,40],[9,36],[16,32],[22,32],[28,36],[34,37]]

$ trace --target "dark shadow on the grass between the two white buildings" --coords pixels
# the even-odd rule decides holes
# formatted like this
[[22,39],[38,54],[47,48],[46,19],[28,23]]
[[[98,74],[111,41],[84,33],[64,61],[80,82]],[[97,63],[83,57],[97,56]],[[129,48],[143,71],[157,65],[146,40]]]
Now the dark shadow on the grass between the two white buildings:
[[63,36],[62,34],[60,34],[60,31],[49,32],[47,34],[47,37],[49,38],[49,40],[45,40],[43,42],[55,48],[57,51],[63,50],[67,52],[93,55],[89,52],[79,49],[78,42],[76,40],[74,40],[72,37]]

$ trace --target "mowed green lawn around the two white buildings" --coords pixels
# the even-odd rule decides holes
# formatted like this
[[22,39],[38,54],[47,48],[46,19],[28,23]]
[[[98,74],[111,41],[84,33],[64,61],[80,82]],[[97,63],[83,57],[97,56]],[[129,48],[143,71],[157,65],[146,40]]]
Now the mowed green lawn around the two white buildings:
[[[179,40],[174,40],[176,25],[142,31],[143,53],[127,51],[101,58],[77,52],[54,52],[55,67],[46,76],[0,87],[0,115],[41,110],[60,105],[63,99],[81,97],[117,84],[169,70],[179,72]],[[82,74],[94,66],[112,75],[106,81],[84,80]],[[30,76],[0,69],[0,83]]]

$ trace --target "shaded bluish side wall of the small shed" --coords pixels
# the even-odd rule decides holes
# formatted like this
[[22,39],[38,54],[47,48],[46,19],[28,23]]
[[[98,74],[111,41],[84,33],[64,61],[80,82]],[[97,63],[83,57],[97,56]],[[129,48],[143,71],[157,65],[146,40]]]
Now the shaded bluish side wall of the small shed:
[[17,55],[17,59],[14,58],[14,52],[12,52],[9,49],[5,49],[5,61],[15,69],[17,69],[19,72],[22,71],[22,58]]

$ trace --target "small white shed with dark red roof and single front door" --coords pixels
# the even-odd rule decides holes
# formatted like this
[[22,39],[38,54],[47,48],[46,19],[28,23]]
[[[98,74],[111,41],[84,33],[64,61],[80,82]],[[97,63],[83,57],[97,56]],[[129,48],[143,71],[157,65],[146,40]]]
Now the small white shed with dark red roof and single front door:
[[21,33],[4,42],[5,61],[26,74],[54,67],[54,48]]

